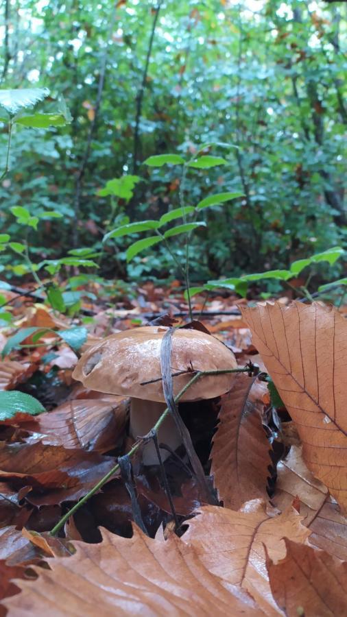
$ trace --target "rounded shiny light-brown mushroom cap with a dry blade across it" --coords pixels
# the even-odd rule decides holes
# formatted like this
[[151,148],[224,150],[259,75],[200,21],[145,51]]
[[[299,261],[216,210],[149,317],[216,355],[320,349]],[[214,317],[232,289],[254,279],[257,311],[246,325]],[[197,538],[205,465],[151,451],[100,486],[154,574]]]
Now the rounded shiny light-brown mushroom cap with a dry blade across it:
[[[162,381],[141,385],[161,377],[160,347],[168,328],[143,326],[106,337],[88,349],[78,361],[73,378],[83,385],[105,392],[165,402]],[[171,372],[225,370],[237,367],[234,354],[215,337],[176,328],[172,335]],[[173,377],[173,394],[191,379],[185,374]],[[232,374],[206,376],[193,384],[181,400],[214,398],[230,390]]]

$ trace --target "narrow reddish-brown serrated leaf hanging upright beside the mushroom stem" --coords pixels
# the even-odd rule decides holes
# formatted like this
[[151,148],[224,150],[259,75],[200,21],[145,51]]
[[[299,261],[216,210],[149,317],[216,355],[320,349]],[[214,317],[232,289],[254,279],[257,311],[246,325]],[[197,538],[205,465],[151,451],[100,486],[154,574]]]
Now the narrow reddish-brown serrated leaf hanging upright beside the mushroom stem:
[[239,509],[247,500],[267,499],[272,461],[260,416],[265,392],[265,383],[239,374],[222,396],[210,458],[213,483],[225,507]]

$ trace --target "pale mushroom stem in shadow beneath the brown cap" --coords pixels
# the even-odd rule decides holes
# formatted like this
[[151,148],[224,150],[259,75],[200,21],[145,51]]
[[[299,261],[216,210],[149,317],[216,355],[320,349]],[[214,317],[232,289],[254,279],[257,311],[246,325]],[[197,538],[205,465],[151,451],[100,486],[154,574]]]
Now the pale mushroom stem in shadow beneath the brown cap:
[[[131,398],[130,435],[135,439],[147,435],[166,408],[167,405],[162,402]],[[158,430],[158,443],[166,444],[171,450],[176,450],[182,444],[180,433],[171,415],[167,415],[167,418],[165,418]],[[169,452],[160,448],[160,455],[163,461],[165,461],[169,457]],[[149,441],[149,444],[143,448],[143,464],[158,465],[158,462],[154,443]]]

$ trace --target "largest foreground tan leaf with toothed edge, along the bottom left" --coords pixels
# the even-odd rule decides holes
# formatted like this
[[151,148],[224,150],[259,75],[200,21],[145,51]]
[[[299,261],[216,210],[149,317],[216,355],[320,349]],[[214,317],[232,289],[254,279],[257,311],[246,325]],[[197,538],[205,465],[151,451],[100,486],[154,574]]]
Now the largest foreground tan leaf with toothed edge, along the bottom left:
[[38,581],[16,581],[8,617],[253,616],[252,598],[211,574],[192,546],[171,535],[152,540],[134,527],[131,538],[104,530],[100,544],[73,542],[76,553],[49,561]]

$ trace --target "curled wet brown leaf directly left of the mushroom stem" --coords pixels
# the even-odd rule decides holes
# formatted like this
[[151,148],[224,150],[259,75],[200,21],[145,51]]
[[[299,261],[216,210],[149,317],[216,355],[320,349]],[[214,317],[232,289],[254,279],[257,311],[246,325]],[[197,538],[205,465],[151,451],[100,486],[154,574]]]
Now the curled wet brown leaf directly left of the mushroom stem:
[[70,400],[21,424],[21,428],[34,432],[30,443],[39,439],[50,446],[107,452],[123,435],[128,406],[128,398],[105,394],[102,399]]

